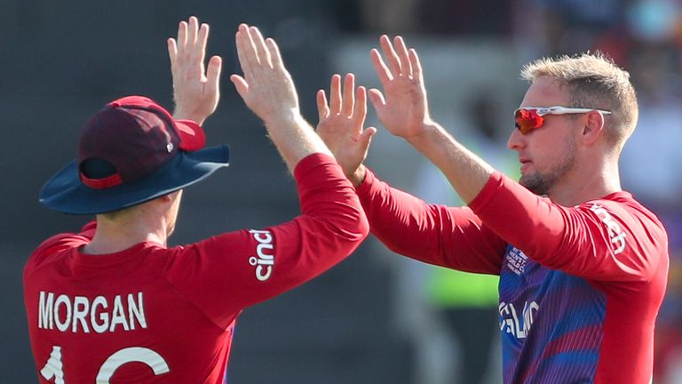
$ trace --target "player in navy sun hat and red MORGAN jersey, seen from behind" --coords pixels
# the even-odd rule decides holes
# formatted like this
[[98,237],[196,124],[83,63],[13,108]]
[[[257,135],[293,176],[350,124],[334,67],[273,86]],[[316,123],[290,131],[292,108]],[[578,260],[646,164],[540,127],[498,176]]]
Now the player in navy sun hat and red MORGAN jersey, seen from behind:
[[297,180],[301,215],[166,246],[183,189],[227,166],[226,146],[203,148],[221,66],[213,57],[204,71],[207,38],[192,17],[169,39],[175,116],[140,96],[108,103],[41,191],[54,210],[97,216],[46,240],[24,270],[40,382],[221,383],[242,309],[320,275],[368,234],[353,187],[300,116],[277,45],[242,24],[244,75],[231,80]]

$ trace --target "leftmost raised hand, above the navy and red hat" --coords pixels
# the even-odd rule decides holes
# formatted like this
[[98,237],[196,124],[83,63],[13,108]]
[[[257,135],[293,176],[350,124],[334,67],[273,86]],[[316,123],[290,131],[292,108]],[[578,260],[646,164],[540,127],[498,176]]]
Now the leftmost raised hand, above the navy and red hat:
[[208,38],[209,25],[204,23],[200,27],[199,20],[192,16],[188,21],[180,21],[178,39],[171,37],[167,41],[173,75],[173,115],[198,124],[216,110],[220,99],[220,57],[211,57],[204,71]]

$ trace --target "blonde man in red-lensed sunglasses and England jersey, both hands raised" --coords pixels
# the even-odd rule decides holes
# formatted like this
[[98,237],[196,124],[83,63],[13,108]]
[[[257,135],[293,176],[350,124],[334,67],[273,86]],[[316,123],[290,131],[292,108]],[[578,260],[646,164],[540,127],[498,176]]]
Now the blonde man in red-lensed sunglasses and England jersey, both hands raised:
[[371,58],[384,93],[369,91],[379,120],[469,206],[429,205],[389,187],[361,164],[373,129],[321,120],[372,233],[408,257],[500,276],[504,383],[648,383],[668,242],[661,221],[620,185],[618,157],[638,116],[627,72],[600,54],[523,69],[530,86],[508,141],[519,153],[517,183],[431,119],[415,50],[400,36],[380,43],[385,60],[377,50]]

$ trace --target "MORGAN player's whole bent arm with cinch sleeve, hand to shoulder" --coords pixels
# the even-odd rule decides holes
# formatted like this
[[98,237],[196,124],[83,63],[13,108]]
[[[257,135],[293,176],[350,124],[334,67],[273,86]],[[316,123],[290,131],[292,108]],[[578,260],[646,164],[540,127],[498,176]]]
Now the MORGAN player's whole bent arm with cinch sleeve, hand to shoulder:
[[[292,171],[301,214],[277,226],[230,232],[178,249],[190,257],[171,260],[166,276],[221,328],[243,308],[344,260],[369,233],[351,183],[300,115],[294,84],[274,40],[246,24],[239,26],[236,40],[244,75],[230,78],[246,105],[266,123]],[[207,286],[228,294],[207,295]]]

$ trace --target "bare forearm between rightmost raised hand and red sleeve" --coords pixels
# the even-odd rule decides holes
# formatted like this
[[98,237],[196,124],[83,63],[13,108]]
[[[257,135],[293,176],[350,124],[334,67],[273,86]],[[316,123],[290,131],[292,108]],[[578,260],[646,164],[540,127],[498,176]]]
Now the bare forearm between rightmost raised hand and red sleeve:
[[466,204],[480,193],[495,171],[437,123],[426,124],[423,133],[408,141],[443,172]]

